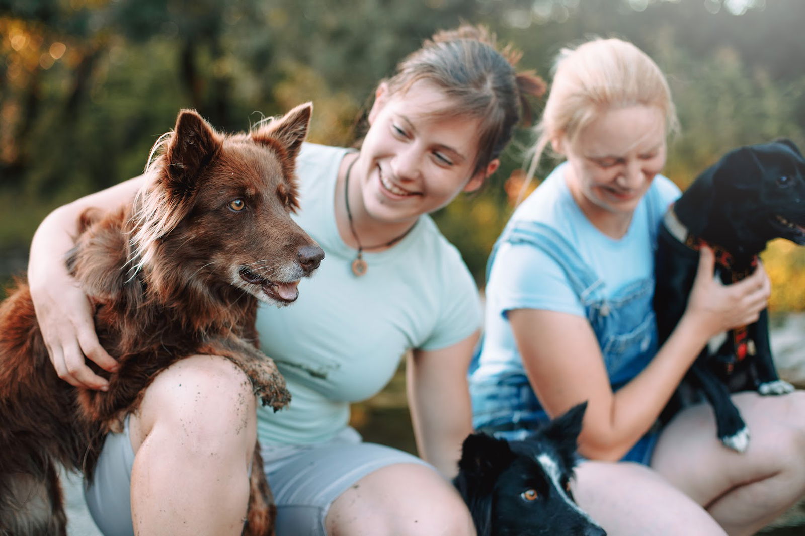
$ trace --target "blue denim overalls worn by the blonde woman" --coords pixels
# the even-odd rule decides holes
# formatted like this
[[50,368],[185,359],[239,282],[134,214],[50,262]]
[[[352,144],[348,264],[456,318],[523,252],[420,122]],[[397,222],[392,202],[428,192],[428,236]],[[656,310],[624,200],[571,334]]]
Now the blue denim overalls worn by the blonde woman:
[[[646,203],[649,221],[657,221],[657,208]],[[652,225],[653,227],[653,225]],[[650,229],[652,245],[656,229]],[[576,253],[576,249],[548,225],[535,221],[516,221],[509,225],[495,244],[487,264],[487,279],[499,245],[528,244],[541,249],[559,263],[572,290],[584,306],[587,320],[601,346],[613,391],[638,375],[657,353],[657,327],[651,300],[654,277],[638,279],[613,296],[605,295],[605,283]],[[479,346],[481,348],[481,346]],[[572,356],[568,356],[572,359]],[[510,370],[495,377],[473,381],[476,355],[471,367],[470,393],[473,397],[473,427],[501,439],[525,439],[548,416],[537,400],[522,371]],[[658,437],[657,427],[626,453],[622,460],[649,464]]]

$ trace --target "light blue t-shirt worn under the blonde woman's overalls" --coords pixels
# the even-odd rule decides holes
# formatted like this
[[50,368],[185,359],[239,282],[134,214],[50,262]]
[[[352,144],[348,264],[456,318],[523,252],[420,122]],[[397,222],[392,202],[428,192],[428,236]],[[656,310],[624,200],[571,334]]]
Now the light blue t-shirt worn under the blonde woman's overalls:
[[[654,249],[649,229],[659,225],[665,209],[679,197],[679,188],[663,175],[654,177],[620,239],[601,233],[584,216],[565,180],[567,163],[559,165],[514,212],[511,222],[549,225],[572,246],[582,261],[605,283],[605,297],[643,278],[652,278]],[[647,210],[647,204],[655,204]],[[656,221],[649,221],[649,214]],[[511,223],[510,223],[511,225]],[[568,275],[549,254],[529,244],[502,243],[486,285],[485,332],[473,381],[502,373],[523,373],[507,311],[544,309],[586,318]]]

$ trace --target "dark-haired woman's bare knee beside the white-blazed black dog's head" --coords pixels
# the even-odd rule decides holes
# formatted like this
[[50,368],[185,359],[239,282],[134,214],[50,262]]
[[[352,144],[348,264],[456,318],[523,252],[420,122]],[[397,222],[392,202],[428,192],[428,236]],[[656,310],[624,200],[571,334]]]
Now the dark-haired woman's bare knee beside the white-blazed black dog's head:
[[472,536],[469,509],[435,470],[394,464],[378,469],[342,493],[326,520],[328,534]]

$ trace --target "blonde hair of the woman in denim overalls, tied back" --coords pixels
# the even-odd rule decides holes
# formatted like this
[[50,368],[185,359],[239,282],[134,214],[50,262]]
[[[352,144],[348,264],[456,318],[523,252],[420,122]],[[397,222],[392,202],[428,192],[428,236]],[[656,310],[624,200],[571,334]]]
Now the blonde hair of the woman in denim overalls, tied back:
[[665,118],[667,134],[679,129],[663,72],[634,44],[592,39],[576,48],[563,48],[554,64],[543,118],[535,126],[537,141],[528,179],[534,176],[551,140],[563,136],[573,142],[607,109],[633,105],[656,106]]

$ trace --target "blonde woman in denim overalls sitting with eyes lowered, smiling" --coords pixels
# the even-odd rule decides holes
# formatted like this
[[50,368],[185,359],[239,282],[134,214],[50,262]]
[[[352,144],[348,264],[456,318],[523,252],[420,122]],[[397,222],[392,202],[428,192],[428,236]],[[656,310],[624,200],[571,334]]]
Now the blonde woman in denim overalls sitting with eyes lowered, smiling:
[[654,234],[679,189],[659,175],[677,121],[667,81],[631,43],[595,39],[555,67],[531,170],[565,162],[493,250],[474,425],[510,439],[588,401],[576,498],[611,535],[754,534],[805,493],[805,396],[733,395],[749,449],[716,439],[712,410],[658,415],[711,336],[757,320],[762,267],[732,285],[703,249],[687,310],[658,348]]

